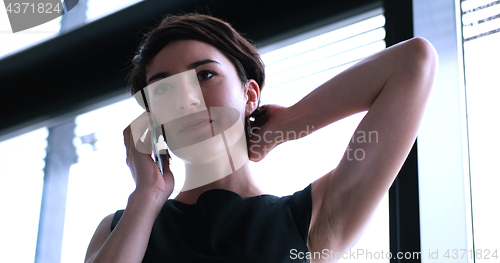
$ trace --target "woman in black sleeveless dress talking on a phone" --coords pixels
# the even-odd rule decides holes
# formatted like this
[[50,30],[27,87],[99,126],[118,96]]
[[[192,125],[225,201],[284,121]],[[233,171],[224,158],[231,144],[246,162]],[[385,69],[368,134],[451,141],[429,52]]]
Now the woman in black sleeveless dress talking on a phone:
[[[247,134],[241,166],[168,200],[174,185],[168,162],[162,175],[125,129],[136,189],[123,212],[98,226],[86,262],[336,262],[336,252],[349,250],[362,234],[414,143],[437,55],[428,41],[414,38],[364,59],[291,107],[257,110],[264,71],[256,50],[228,24],[187,14],[164,19],[145,38],[134,65],[133,94],[195,70],[203,102],[184,93],[172,109],[232,108],[242,122],[253,113],[252,138],[266,139]],[[299,134],[308,125],[317,130],[365,110],[355,134],[376,131],[377,143],[352,140],[336,169],[293,196],[262,195],[248,159],[259,161],[289,139],[280,134]],[[364,158],[353,158],[349,149],[363,149]]]

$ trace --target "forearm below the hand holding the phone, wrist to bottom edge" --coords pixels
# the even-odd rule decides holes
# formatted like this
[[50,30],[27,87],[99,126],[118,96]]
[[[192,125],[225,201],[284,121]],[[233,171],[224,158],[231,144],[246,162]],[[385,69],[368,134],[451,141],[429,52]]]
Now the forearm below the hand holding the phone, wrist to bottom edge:
[[161,205],[134,192],[101,249],[86,262],[142,262]]

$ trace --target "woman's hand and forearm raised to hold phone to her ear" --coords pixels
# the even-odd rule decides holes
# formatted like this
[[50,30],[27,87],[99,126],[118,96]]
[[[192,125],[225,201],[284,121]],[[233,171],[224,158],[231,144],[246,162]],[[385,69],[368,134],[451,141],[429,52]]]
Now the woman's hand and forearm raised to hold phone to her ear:
[[135,149],[130,127],[125,129],[123,135],[127,164],[134,176],[136,189],[130,195],[127,208],[113,232],[110,229],[113,215],[99,224],[87,249],[86,263],[142,262],[153,223],[174,188],[166,157],[162,156],[165,158],[162,176],[151,156]]

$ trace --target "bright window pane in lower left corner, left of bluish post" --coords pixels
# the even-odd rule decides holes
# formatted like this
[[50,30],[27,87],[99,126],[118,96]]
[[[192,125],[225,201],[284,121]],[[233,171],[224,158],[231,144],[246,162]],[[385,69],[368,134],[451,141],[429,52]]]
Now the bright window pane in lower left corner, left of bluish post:
[[0,262],[33,262],[48,131],[0,143]]

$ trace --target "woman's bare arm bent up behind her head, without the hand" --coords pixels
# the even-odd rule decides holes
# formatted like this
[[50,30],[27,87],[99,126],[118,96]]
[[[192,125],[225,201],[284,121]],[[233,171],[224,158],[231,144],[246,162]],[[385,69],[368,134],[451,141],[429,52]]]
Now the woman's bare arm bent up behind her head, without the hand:
[[338,167],[312,184],[311,252],[346,251],[360,237],[415,141],[437,60],[427,40],[414,38],[364,59],[281,112],[278,127],[300,131],[368,110]]

